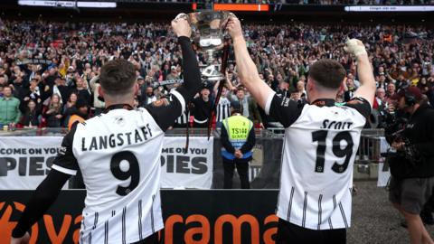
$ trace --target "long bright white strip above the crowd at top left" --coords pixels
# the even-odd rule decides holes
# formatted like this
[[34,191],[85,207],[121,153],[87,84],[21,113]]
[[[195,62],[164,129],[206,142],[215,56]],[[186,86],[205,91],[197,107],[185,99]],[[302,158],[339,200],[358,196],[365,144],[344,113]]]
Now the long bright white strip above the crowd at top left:
[[83,2],[83,1],[38,1],[18,0],[18,5],[48,6],[48,7],[90,7],[90,8],[115,8],[115,2]]

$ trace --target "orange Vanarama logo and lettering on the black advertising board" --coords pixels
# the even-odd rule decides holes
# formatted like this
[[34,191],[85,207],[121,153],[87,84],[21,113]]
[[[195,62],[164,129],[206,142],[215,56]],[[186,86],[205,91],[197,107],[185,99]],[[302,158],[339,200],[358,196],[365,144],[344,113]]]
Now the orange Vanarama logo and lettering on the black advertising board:
[[[24,208],[20,202],[0,202],[0,243],[10,243],[12,230]],[[71,212],[59,211],[44,214],[39,224],[33,225],[30,243],[79,242],[81,215],[72,217]],[[166,216],[165,229],[159,234],[165,244],[241,244],[245,239],[250,239],[251,244],[274,244],[277,226],[275,214],[258,217],[249,213],[225,213],[210,218],[192,212]]]

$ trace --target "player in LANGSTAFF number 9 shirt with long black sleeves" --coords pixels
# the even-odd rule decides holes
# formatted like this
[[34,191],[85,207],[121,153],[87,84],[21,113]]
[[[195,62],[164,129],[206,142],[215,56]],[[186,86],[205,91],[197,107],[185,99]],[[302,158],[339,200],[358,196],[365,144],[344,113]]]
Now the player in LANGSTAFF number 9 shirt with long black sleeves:
[[157,243],[164,228],[160,204],[160,155],[165,130],[201,88],[201,75],[190,42],[191,28],[179,14],[172,22],[183,52],[184,83],[166,99],[133,108],[136,69],[125,60],[106,63],[99,94],[106,109],[72,127],[62,152],[38,186],[14,228],[12,243],[27,243],[27,230],[38,221],[71,175],[86,186],[80,243]]

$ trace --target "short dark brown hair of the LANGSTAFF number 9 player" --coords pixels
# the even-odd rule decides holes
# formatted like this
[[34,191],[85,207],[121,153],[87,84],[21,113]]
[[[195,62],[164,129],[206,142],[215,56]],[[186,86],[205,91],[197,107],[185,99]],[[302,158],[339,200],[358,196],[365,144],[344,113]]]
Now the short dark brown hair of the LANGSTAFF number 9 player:
[[99,74],[101,88],[109,95],[126,95],[136,83],[136,69],[126,60],[118,59],[104,64]]

